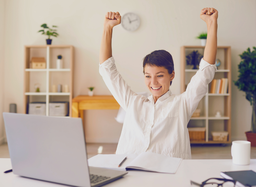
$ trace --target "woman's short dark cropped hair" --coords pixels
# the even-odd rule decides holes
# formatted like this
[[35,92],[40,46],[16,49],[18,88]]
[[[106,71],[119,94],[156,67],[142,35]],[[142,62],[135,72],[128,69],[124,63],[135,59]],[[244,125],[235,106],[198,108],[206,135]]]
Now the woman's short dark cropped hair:
[[[168,70],[169,74],[174,71],[174,64],[172,55],[165,50],[152,51],[150,54],[143,58],[143,73],[145,74],[145,66],[164,67]],[[172,83],[170,83],[171,85]]]

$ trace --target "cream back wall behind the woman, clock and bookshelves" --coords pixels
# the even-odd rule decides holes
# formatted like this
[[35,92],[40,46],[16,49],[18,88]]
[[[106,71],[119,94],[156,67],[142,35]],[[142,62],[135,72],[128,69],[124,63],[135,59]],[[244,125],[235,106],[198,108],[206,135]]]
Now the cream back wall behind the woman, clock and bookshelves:
[[[4,111],[17,103],[18,113],[23,104],[23,46],[45,44],[46,36],[37,31],[47,23],[58,26],[58,38],[52,44],[75,46],[74,96],[87,94],[87,87],[95,86],[97,95],[110,95],[99,74],[99,48],[103,18],[108,11],[121,15],[134,12],[141,18],[135,32],[114,28],[113,56],[117,68],[135,92],[147,91],[142,73],[142,58],[157,49],[172,54],[176,72],[171,90],[180,93],[180,46],[200,45],[195,36],[207,31],[200,19],[204,7],[219,11],[218,45],[230,45],[232,79],[237,79],[239,54],[256,42],[256,2],[240,1],[84,1],[84,0],[8,0],[5,1],[5,74]],[[250,129],[251,106],[232,85],[232,136],[244,139]],[[1,96],[1,95],[0,95]],[[90,142],[117,142],[122,125],[113,118],[117,110],[85,112],[86,137]]]

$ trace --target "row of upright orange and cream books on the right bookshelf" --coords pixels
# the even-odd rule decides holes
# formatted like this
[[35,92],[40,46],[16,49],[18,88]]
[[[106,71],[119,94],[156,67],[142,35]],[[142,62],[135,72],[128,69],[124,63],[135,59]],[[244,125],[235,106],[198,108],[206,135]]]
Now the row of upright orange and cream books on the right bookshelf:
[[213,79],[210,93],[228,93],[228,79]]

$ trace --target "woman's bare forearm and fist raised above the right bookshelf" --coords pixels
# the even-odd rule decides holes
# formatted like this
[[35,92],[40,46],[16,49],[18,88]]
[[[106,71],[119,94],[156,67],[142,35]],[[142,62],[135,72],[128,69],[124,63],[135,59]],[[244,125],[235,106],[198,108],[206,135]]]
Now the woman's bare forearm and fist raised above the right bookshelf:
[[217,19],[218,11],[215,8],[203,8],[200,18],[207,24],[207,41],[204,49],[204,60],[215,64],[217,54]]

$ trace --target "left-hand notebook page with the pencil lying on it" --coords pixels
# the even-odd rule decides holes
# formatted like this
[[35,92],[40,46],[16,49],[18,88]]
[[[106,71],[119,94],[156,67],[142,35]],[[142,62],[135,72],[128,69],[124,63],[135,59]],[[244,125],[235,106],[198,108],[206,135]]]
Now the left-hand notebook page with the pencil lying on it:
[[[137,156],[136,154],[98,154],[88,159],[88,166],[126,171],[125,167]],[[127,159],[118,167],[125,157]]]

